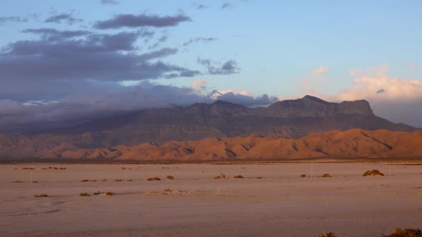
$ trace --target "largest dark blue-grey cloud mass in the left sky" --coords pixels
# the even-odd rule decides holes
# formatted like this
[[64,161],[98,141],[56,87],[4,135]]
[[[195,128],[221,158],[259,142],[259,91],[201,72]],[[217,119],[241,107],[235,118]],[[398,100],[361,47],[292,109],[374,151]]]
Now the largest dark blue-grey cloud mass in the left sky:
[[39,38],[21,40],[0,52],[0,99],[54,100],[78,91],[78,83],[192,77],[200,72],[163,62],[175,48],[140,51],[149,30],[115,34],[85,30],[26,29]]

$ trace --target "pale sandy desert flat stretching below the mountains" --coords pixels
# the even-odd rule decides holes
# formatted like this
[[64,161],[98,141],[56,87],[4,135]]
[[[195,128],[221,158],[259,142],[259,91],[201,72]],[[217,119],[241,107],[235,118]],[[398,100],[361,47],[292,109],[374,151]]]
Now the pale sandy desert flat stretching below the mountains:
[[[67,169],[42,169],[49,166]],[[33,184],[24,167],[31,165],[0,166],[0,236],[381,236],[422,228],[421,165],[37,164]],[[214,179],[220,169],[230,179]],[[372,169],[385,176],[362,177]],[[167,175],[175,179],[145,180]],[[41,193],[49,197],[33,198]]]

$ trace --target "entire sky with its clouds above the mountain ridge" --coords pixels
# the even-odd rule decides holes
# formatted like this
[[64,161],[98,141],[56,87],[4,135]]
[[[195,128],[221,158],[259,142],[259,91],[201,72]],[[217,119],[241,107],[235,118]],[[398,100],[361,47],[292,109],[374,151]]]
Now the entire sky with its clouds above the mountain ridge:
[[0,132],[150,107],[369,100],[422,128],[422,1],[0,1]]

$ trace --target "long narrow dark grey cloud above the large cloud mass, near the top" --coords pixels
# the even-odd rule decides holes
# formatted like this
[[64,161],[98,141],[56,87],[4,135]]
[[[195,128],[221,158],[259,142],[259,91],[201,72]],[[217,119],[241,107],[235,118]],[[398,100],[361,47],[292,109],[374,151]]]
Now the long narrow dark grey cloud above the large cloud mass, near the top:
[[122,28],[122,27],[129,27],[129,28],[137,28],[143,26],[151,26],[151,27],[167,27],[167,26],[177,26],[180,22],[183,21],[192,21],[183,13],[174,16],[158,16],[158,15],[131,15],[131,14],[121,14],[115,15],[112,19],[108,19],[105,21],[97,21],[94,25],[95,28],[98,29],[108,29],[108,28]]

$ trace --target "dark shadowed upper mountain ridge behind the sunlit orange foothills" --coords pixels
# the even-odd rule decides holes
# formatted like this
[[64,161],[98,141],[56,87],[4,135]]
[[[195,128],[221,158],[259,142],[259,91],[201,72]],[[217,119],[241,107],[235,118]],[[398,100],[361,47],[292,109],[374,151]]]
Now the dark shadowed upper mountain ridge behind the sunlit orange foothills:
[[[386,129],[412,132],[411,126],[375,116],[366,100],[328,103],[312,96],[248,108],[224,101],[189,107],[144,109],[38,134],[0,134],[0,156],[26,156],[64,150],[137,146],[217,137],[300,138],[330,130]],[[7,151],[7,152],[6,152]]]

